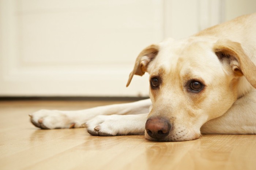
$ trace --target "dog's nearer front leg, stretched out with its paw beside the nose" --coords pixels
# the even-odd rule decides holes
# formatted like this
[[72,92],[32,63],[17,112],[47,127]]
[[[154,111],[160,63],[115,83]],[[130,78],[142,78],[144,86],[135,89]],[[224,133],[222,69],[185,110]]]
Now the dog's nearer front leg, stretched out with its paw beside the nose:
[[84,124],[97,136],[143,135],[148,113],[139,115],[99,115]]

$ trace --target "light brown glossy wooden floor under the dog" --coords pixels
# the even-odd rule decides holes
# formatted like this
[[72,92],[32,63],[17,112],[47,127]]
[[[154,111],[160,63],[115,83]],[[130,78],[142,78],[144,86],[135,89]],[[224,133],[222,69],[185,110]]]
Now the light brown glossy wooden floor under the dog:
[[28,114],[120,102],[0,102],[0,170],[256,169],[256,135],[203,135],[186,142],[94,137],[85,129],[39,130]]

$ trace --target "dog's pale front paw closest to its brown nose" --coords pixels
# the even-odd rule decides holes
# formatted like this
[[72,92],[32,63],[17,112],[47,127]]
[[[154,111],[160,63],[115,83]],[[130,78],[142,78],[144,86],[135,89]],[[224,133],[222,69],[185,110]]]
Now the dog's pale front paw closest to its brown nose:
[[94,136],[116,136],[125,135],[120,133],[120,115],[99,115],[83,123],[89,134]]

